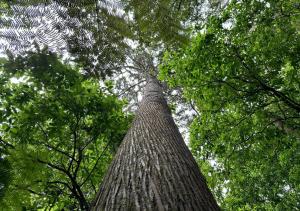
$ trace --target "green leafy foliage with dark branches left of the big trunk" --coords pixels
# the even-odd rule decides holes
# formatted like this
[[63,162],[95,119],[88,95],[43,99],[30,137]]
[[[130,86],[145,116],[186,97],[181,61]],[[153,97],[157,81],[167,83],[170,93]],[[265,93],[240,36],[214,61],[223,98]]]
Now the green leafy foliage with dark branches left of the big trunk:
[[1,208],[87,209],[131,121],[124,102],[46,49],[10,55],[0,74],[1,162],[12,177],[0,181]]

